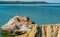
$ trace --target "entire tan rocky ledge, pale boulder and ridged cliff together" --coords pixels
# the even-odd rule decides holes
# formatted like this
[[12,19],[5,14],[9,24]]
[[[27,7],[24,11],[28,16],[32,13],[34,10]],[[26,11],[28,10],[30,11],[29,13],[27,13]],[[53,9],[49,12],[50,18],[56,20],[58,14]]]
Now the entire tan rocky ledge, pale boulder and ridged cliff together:
[[2,26],[15,37],[60,37],[60,24],[35,24],[28,16],[15,16]]

